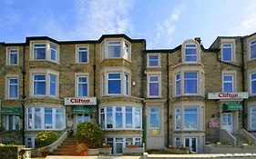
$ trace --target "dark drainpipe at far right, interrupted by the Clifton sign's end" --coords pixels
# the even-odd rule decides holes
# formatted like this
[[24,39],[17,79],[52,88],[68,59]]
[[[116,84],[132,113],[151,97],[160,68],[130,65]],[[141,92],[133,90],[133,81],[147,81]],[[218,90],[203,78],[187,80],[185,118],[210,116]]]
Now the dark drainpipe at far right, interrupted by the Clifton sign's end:
[[[242,83],[242,92],[245,91],[245,69],[244,69],[244,45],[243,45],[243,41],[244,41],[244,38],[241,37],[241,83]],[[241,115],[241,118],[242,118],[242,128],[245,129],[245,118],[246,118],[246,112],[245,112],[245,101],[242,100],[241,102],[242,106],[243,106],[243,109],[242,109],[242,115]]]

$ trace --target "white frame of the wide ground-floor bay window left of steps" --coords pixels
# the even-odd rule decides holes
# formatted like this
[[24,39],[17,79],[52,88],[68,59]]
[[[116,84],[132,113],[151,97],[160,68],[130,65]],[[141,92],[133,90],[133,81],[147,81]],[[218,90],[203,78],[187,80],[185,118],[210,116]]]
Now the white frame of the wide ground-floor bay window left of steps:
[[[31,112],[28,112],[28,109],[31,108]],[[40,114],[40,128],[35,128],[35,114],[36,114],[36,108],[40,109],[40,112],[37,114]],[[52,128],[46,128],[45,127],[45,108],[47,107],[27,107],[26,108],[26,130],[27,131],[35,131],[35,130],[64,130],[66,129],[66,109],[61,108],[61,107],[48,107],[52,108]],[[63,109],[63,114],[64,114],[64,124],[62,125],[62,128],[56,128],[56,109]],[[32,125],[31,128],[29,128],[29,114],[32,114]]]

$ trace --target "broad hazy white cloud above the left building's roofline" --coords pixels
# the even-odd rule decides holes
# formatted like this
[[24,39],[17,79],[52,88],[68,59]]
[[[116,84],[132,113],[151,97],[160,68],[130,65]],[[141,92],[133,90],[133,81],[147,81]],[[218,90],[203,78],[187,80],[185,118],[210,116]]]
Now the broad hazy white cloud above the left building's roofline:
[[126,0],[78,0],[77,25],[72,35],[97,39],[103,34],[129,33],[133,27],[128,15],[132,5]]

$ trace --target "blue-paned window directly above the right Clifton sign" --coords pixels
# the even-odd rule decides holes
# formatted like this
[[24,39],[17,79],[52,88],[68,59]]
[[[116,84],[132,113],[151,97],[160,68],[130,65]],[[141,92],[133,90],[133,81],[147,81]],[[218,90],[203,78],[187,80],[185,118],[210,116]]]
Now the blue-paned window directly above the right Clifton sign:
[[234,75],[223,75],[222,92],[234,92]]

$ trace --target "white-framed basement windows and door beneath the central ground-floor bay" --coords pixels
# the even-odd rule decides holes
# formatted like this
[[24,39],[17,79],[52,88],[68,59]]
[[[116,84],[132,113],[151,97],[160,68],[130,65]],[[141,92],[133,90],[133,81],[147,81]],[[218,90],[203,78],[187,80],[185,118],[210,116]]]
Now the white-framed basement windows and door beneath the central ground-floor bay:
[[123,149],[128,145],[135,145],[136,147],[142,147],[141,137],[118,137],[104,138],[104,142],[112,147],[112,154],[122,154]]

